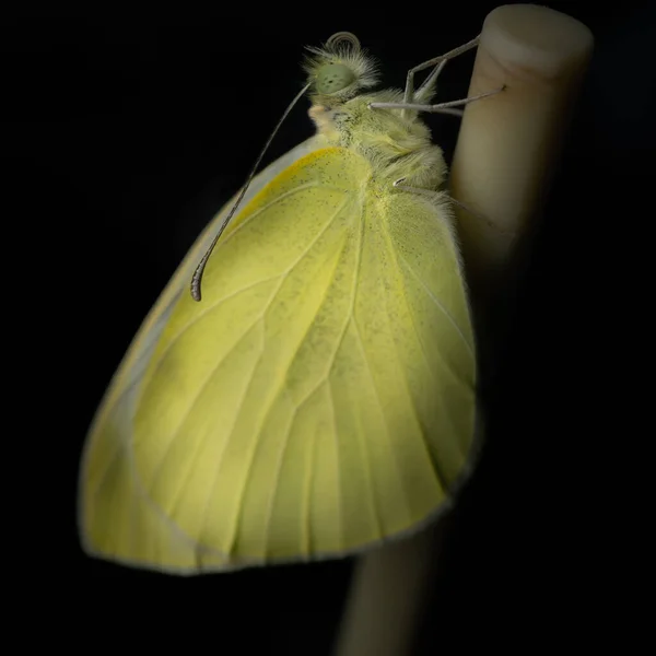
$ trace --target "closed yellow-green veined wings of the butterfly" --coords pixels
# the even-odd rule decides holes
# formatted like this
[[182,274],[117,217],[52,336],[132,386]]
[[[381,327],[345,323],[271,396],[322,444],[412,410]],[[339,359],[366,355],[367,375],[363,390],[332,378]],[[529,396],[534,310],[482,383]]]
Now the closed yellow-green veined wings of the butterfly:
[[444,504],[475,423],[457,249],[445,208],[371,180],[349,150],[303,156],[226,230],[201,303],[164,293],[92,429],[90,552],[191,574],[340,555]]

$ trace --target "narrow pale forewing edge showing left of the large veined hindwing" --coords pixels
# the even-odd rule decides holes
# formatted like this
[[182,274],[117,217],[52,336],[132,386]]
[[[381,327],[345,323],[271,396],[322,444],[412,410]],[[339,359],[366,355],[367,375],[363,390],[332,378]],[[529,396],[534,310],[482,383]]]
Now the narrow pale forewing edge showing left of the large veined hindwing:
[[[313,137],[267,166],[250,183],[242,207],[282,171],[316,148]],[[236,196],[225,203],[180,262],[132,340],[94,417],[84,445],[78,503],[82,546],[92,555],[132,565],[162,561],[181,573],[196,566],[195,544],[183,537],[179,543],[168,537],[160,540],[160,536],[168,536],[171,526],[139,490],[126,441],[131,432],[133,390],[154,344],[177,298],[189,294],[191,274],[235,200]],[[112,480],[99,488],[93,485],[98,477],[96,467],[114,467],[109,469]],[[121,499],[128,500],[127,503],[121,503]],[[121,547],[120,530],[124,529],[130,534],[130,544]],[[216,566],[227,566],[224,561],[219,558]]]

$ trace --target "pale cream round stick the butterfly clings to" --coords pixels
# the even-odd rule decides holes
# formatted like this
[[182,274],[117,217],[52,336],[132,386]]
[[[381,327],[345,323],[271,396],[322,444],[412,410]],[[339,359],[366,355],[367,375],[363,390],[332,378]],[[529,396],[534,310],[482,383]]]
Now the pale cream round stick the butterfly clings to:
[[[483,320],[526,254],[591,49],[585,25],[544,7],[499,7],[485,19],[469,95],[505,90],[467,107],[452,169],[454,197],[473,210],[458,220]],[[412,653],[443,528],[361,558],[336,656]]]

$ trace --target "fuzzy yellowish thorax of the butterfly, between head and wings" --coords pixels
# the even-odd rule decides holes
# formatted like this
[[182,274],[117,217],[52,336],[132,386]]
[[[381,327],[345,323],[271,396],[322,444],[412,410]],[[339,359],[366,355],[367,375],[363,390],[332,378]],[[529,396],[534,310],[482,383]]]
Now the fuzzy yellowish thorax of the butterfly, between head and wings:
[[405,178],[406,185],[437,190],[446,178],[446,164],[417,113],[401,117],[399,109],[370,107],[374,102],[401,99],[401,92],[383,91],[330,106],[317,103],[308,114],[328,144],[355,150],[372,163],[380,180],[391,184]]

